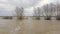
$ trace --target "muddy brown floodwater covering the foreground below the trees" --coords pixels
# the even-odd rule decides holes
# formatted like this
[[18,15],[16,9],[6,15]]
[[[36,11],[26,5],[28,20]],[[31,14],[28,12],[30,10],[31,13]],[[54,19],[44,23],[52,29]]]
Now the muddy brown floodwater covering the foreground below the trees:
[[0,34],[60,34],[60,21],[0,19]]

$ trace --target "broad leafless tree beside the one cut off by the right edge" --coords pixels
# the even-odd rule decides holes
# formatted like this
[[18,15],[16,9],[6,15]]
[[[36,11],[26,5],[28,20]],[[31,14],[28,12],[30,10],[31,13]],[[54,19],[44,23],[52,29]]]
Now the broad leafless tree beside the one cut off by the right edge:
[[50,3],[50,4],[47,4],[45,6],[43,6],[43,9],[45,11],[45,14],[46,14],[46,20],[50,20],[53,13],[55,13],[55,5]]

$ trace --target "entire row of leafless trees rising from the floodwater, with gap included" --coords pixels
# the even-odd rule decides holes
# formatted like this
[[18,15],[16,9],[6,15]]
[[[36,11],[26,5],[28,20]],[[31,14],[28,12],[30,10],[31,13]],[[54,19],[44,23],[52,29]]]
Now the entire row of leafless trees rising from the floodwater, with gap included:
[[[16,7],[16,14],[19,19],[22,19],[24,14],[24,8],[23,7]],[[33,7],[34,16],[36,16],[36,19],[40,19],[40,16],[44,16],[45,19],[49,20],[51,17],[56,17],[56,19],[60,19],[60,3],[50,3],[46,4],[42,7]]]

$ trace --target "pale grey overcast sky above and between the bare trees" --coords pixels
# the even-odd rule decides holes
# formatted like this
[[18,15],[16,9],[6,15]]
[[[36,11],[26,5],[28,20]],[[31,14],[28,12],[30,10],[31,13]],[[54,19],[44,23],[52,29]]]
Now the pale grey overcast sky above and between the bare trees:
[[45,4],[57,1],[59,2],[60,0],[0,0],[0,15],[11,14],[11,12],[15,10],[16,6],[24,7],[26,13],[28,12],[32,14],[32,7],[42,7]]

